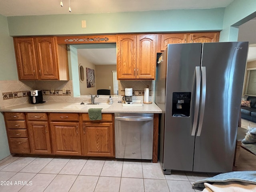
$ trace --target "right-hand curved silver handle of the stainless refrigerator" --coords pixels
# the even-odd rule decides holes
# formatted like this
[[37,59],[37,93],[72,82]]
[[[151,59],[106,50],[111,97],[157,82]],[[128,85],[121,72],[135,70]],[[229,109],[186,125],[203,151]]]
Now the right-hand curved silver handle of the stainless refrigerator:
[[206,67],[202,67],[202,100],[201,100],[201,110],[200,110],[200,117],[199,117],[199,123],[198,123],[198,131],[196,136],[200,136],[202,131],[202,124],[204,120],[205,98],[206,98]]

